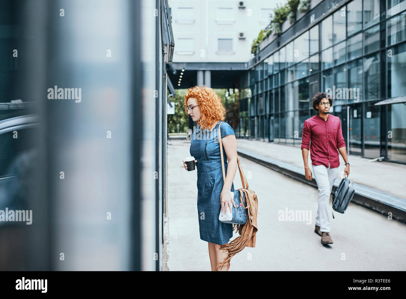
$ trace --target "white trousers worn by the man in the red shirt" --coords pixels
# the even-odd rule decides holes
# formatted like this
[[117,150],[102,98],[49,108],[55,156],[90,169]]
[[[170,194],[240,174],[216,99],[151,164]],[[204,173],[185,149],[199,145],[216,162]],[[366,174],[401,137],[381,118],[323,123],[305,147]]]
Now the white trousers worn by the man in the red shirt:
[[[316,225],[320,226],[320,231],[330,231],[330,218],[328,216],[331,190],[338,175],[338,167],[327,168],[324,165],[313,166],[313,175],[319,190],[317,200],[319,208],[316,215]],[[328,164],[330,166],[330,164]]]

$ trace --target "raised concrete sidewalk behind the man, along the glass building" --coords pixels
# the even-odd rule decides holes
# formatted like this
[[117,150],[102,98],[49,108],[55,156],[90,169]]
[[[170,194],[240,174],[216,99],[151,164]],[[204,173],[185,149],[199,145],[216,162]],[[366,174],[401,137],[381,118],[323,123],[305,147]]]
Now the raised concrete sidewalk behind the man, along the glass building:
[[[300,147],[247,139],[237,139],[237,147],[304,169]],[[344,161],[341,155],[339,157],[338,178],[341,179],[341,173],[344,171]],[[383,161],[367,162],[367,160],[366,158],[348,155],[348,161],[350,162],[350,175],[348,178],[354,183],[401,197],[406,201],[406,165]],[[311,166],[310,153],[309,166]]]

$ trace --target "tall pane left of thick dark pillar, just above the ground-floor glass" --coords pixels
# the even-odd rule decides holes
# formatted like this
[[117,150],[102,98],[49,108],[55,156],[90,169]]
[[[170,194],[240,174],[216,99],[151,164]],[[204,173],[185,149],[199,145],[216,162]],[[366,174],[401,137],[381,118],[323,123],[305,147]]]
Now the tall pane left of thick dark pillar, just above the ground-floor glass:
[[[380,98],[380,59],[379,53],[364,58],[365,98]],[[361,85],[362,86],[362,85]],[[362,88],[361,88],[362,89]]]

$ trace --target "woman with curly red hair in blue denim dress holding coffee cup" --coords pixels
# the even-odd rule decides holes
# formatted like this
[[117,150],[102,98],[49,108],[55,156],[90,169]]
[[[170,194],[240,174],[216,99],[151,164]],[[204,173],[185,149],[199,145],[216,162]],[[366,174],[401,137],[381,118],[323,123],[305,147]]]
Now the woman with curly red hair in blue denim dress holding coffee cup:
[[[200,238],[209,245],[210,264],[212,271],[227,271],[219,268],[218,263],[224,261],[228,251],[220,250],[233,236],[233,225],[218,220],[220,211],[231,213],[235,203],[234,176],[237,170],[237,141],[234,130],[225,119],[225,109],[220,97],[212,88],[205,85],[188,89],[185,96],[185,112],[198,126],[193,132],[190,155],[194,156],[197,168],[197,210],[199,217]],[[223,181],[220,144],[218,142],[218,126],[221,124],[221,140],[223,146],[226,179]],[[199,131],[203,129],[203,131]],[[187,165],[184,162],[184,168]]]

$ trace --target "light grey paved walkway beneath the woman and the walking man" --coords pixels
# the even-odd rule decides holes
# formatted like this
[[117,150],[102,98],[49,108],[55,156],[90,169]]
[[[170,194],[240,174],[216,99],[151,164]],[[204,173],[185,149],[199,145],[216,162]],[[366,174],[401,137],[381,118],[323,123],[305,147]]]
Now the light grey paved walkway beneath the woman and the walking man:
[[[242,141],[242,142],[241,142]],[[237,140],[243,146],[244,140]],[[265,146],[257,142],[255,148]],[[165,222],[166,267],[169,271],[210,271],[207,242],[200,240],[197,219],[197,173],[187,172],[182,159],[190,141],[168,140],[168,219]],[[279,148],[278,148],[279,147]],[[254,147],[250,147],[253,150]],[[287,148],[287,146],[283,146]],[[269,147],[278,158],[292,155],[280,145]],[[300,154],[300,149],[292,148]],[[263,154],[263,153],[262,153]],[[300,156],[301,159],[301,156]],[[357,158],[361,159],[361,158]],[[357,165],[356,159],[350,159]],[[231,260],[230,271],[405,271],[406,225],[350,203],[345,214],[335,213],[331,237],[322,245],[314,230],[317,189],[241,158],[250,189],[258,195],[257,244],[246,247]],[[372,162],[371,162],[372,163]],[[377,163],[378,164],[378,163]],[[395,166],[397,167],[397,166]],[[356,177],[356,167],[351,175]],[[359,173],[359,171],[358,171]],[[241,188],[240,176],[234,179]],[[376,186],[374,186],[376,187]],[[304,210],[306,221],[280,221],[280,211]],[[311,217],[310,217],[311,216]],[[234,234],[233,238],[238,234]],[[249,259],[249,257],[252,259]]]

